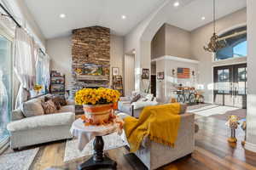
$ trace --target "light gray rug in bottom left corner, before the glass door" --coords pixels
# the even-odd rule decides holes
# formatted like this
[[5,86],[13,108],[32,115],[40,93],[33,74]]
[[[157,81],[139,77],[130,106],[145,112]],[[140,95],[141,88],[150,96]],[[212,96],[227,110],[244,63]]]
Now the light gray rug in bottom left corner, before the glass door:
[[0,170],[28,170],[39,148],[0,156]]

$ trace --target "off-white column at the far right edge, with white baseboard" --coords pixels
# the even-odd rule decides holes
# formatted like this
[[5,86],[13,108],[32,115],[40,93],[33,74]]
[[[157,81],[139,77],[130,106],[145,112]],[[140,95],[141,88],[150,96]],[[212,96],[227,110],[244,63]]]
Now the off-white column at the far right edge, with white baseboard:
[[256,152],[256,1],[247,0],[247,140],[245,148]]

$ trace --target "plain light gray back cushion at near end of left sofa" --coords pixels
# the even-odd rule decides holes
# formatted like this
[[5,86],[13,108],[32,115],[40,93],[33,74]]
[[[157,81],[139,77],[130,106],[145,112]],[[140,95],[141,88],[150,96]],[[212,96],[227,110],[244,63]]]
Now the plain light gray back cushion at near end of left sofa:
[[22,104],[22,112],[24,116],[40,116],[44,115],[44,109],[41,105],[42,99],[31,99]]

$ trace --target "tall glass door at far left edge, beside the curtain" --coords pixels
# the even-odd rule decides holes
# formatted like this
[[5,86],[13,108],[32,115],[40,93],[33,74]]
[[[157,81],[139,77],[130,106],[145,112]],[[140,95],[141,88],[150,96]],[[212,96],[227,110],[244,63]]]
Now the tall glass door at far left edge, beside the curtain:
[[0,149],[7,139],[6,129],[12,108],[12,42],[0,35]]

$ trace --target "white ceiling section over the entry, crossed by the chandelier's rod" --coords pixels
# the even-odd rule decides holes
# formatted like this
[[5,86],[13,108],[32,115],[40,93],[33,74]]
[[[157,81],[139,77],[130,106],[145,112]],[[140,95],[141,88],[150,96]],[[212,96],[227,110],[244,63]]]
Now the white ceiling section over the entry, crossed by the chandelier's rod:
[[[216,0],[216,18],[219,19],[246,6],[247,0]],[[177,10],[176,14],[170,16],[167,23],[192,31],[212,22],[212,8],[213,0],[191,1],[191,3]],[[206,17],[206,20],[201,20],[202,16]]]

